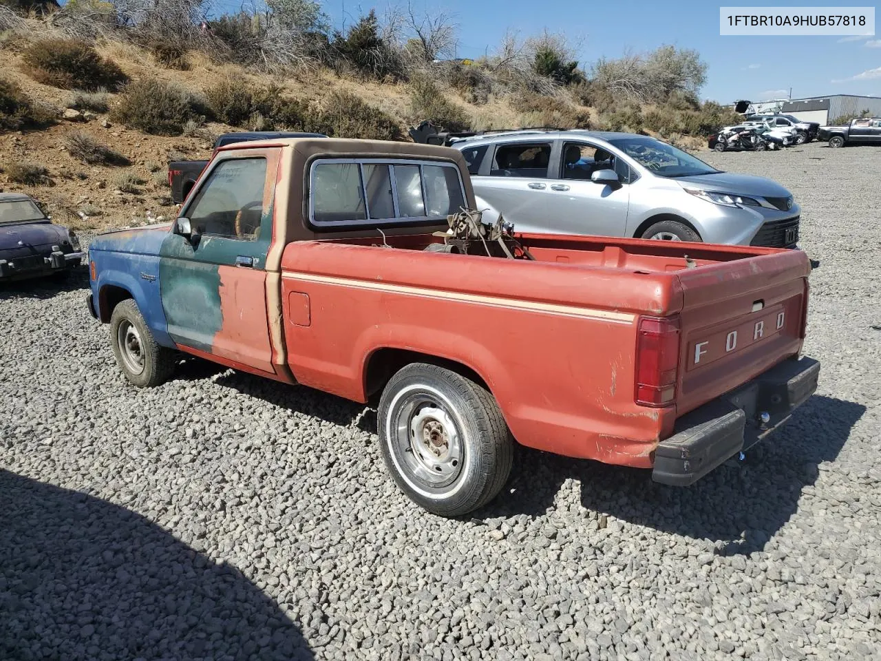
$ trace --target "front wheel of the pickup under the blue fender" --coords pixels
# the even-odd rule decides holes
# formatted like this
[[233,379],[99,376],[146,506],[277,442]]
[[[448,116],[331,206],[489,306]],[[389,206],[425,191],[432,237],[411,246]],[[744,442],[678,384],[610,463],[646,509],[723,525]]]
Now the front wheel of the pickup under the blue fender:
[[174,371],[174,350],[157,344],[133,299],[114,308],[110,341],[122,374],[139,388],[158,386]]

